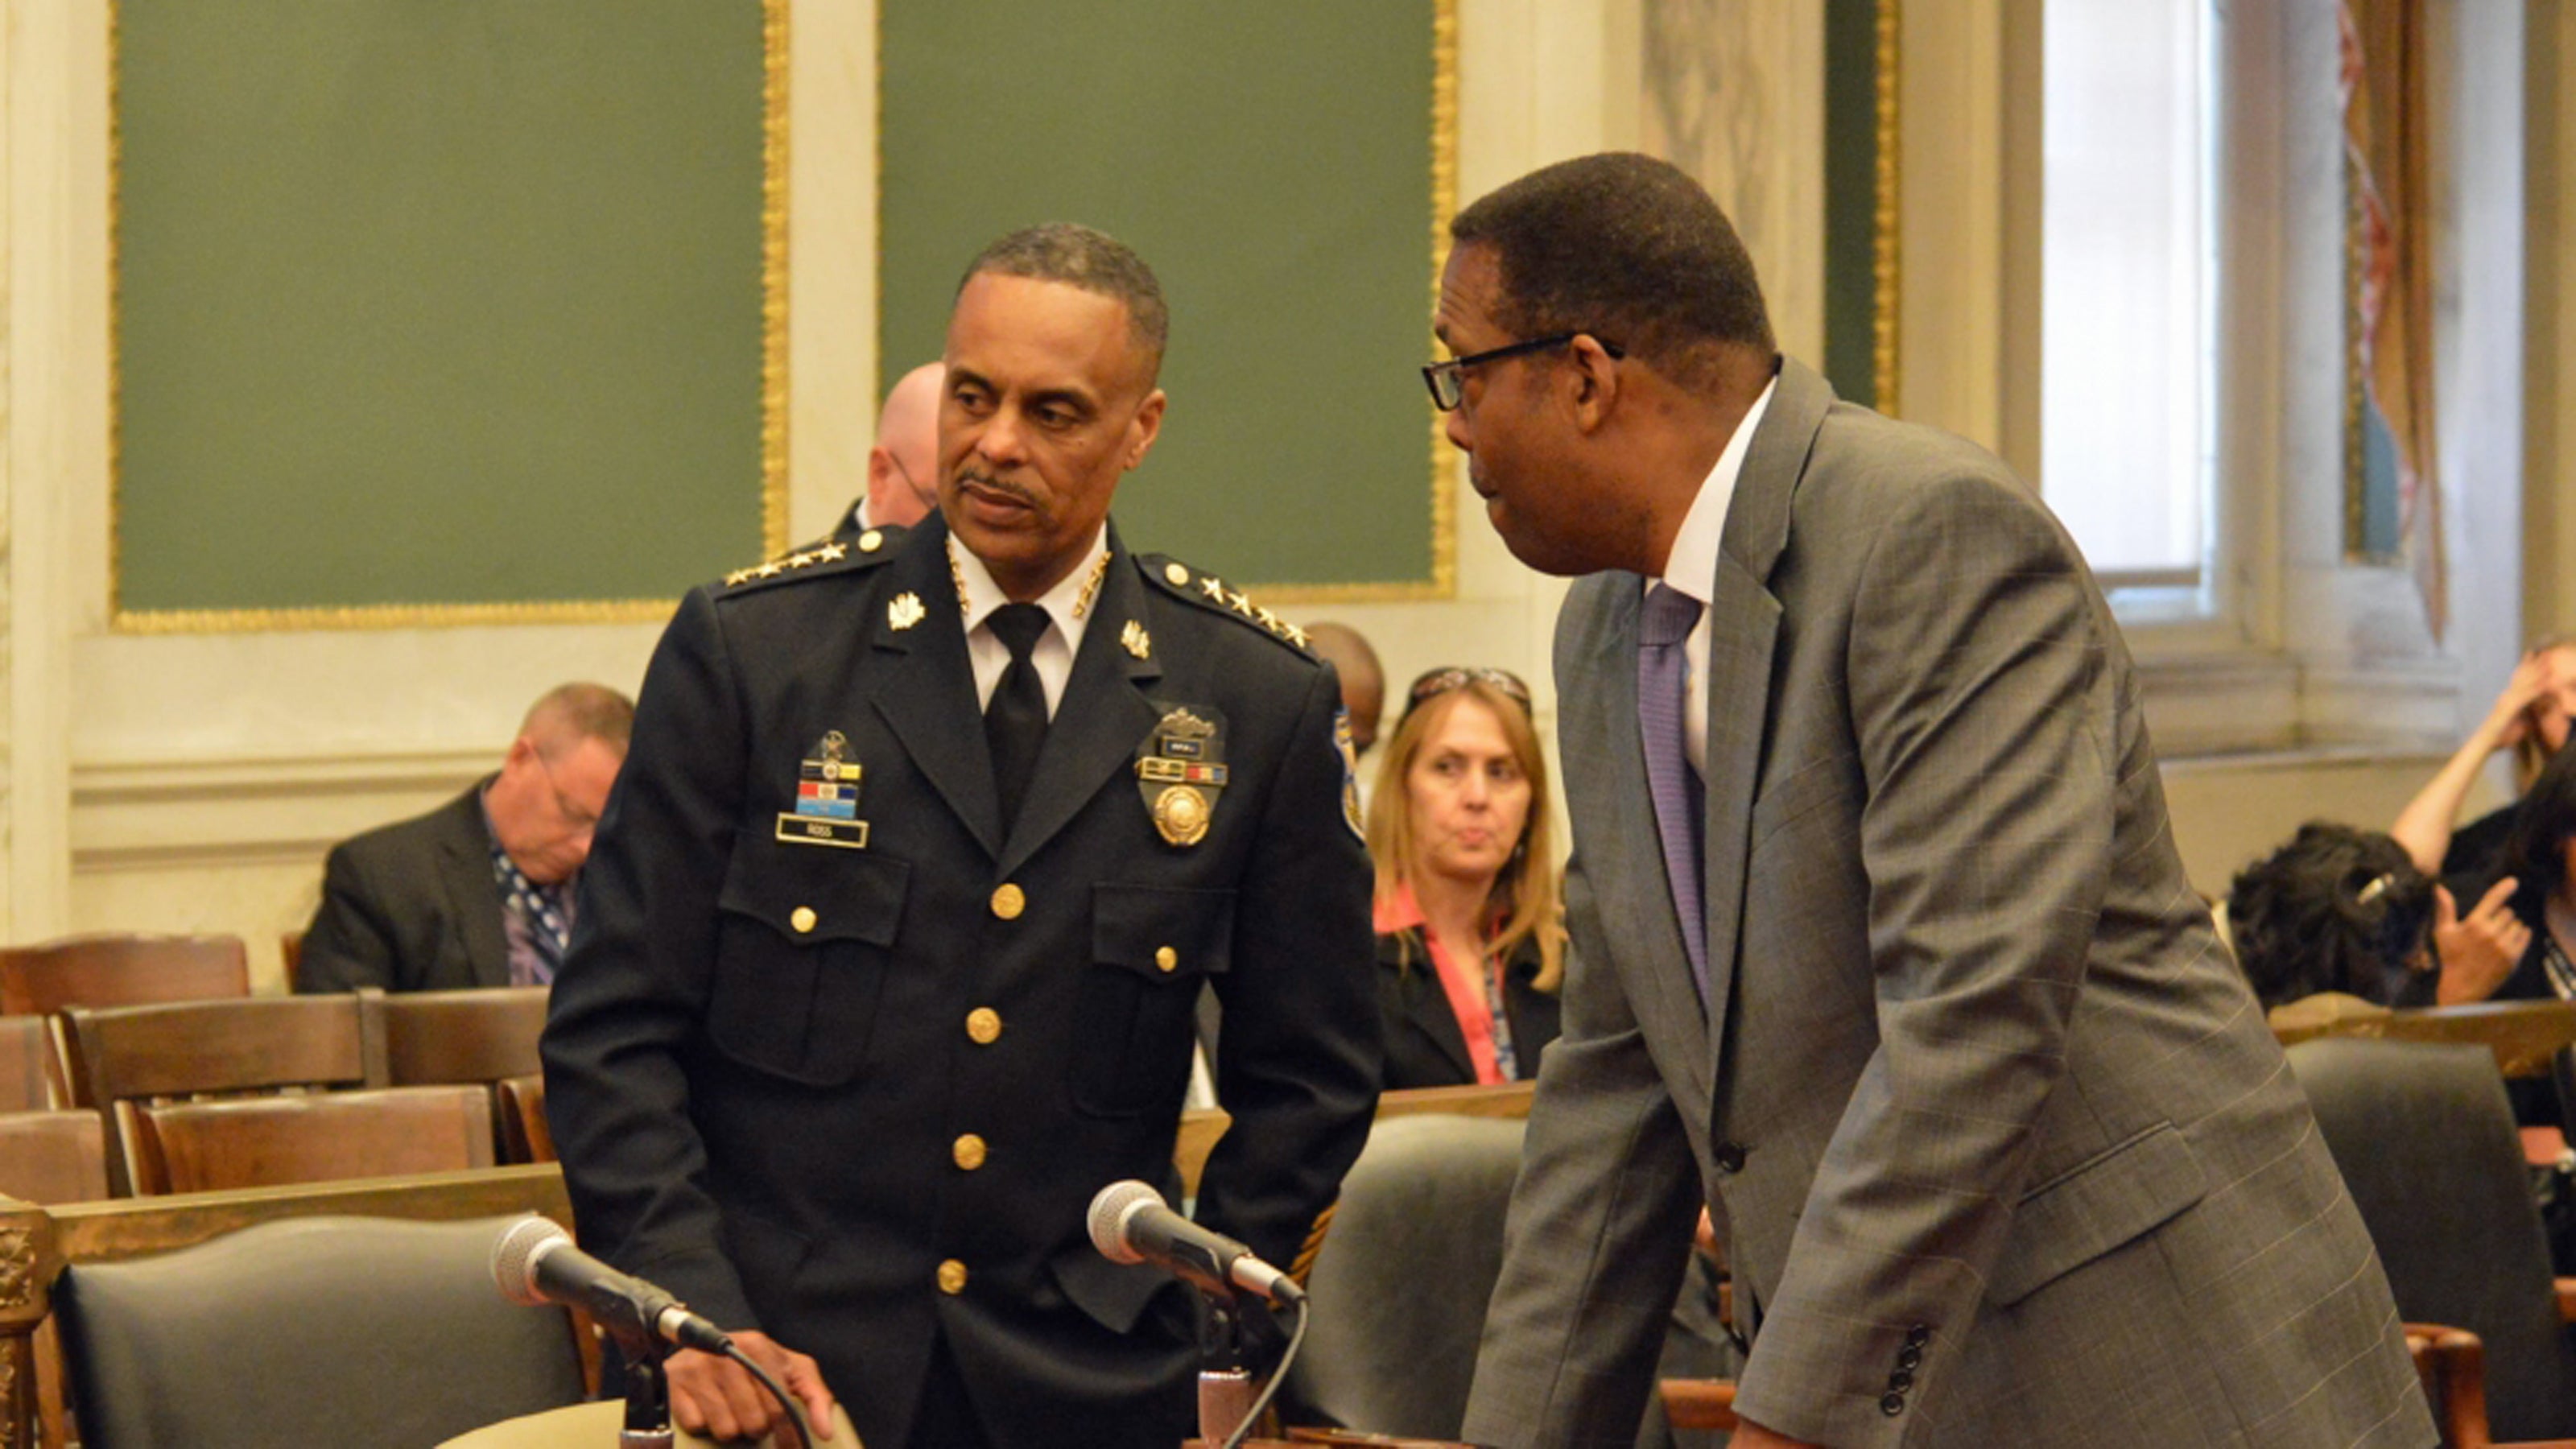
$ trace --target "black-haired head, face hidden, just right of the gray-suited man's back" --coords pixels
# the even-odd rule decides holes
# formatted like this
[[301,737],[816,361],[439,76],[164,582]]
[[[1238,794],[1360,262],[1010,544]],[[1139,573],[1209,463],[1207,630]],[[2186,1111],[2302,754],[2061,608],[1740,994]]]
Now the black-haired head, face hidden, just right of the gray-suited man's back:
[[2321,995],[2414,1006],[2429,993],[2437,890],[2393,838],[2311,820],[2236,871],[2236,964],[2272,1011]]

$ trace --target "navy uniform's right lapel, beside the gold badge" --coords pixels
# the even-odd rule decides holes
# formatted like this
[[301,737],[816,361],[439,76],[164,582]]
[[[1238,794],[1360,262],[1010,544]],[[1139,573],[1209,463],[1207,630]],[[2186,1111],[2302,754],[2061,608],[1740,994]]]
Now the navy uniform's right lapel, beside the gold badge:
[[[1121,766],[1136,758],[1136,743],[1154,730],[1154,706],[1144,686],[1162,678],[1151,655],[1136,657],[1121,647],[1126,624],[1144,621],[1144,583],[1110,529],[1110,567],[1100,578],[1100,598],[1082,629],[1074,673],[1064,681],[1056,719],[1046,727],[1038,771],[1028,779],[1020,820],[1002,846],[1002,874],[1020,869],[1056,830],[1082,810]],[[979,735],[981,737],[981,735]]]

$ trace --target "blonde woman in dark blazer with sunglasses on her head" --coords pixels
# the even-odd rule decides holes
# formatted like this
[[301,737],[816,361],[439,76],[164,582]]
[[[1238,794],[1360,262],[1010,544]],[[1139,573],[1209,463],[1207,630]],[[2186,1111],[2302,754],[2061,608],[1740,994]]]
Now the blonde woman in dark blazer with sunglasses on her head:
[[1388,1091],[1528,1080],[1556,1039],[1566,933],[1546,771],[1517,678],[1414,681],[1368,807]]

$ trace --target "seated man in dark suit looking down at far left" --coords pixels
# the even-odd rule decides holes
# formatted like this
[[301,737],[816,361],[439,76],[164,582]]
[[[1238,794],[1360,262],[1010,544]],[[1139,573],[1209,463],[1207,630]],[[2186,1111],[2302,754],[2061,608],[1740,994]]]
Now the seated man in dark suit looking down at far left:
[[634,714],[603,683],[556,686],[528,709],[497,773],[417,820],[332,846],[296,990],[554,982]]

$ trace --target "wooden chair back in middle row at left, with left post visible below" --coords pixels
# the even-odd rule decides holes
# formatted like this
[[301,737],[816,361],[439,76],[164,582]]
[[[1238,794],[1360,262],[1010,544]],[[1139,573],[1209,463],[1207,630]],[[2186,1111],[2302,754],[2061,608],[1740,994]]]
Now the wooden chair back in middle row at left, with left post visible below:
[[137,1106],[286,1088],[379,1088],[384,993],[252,995],[165,1006],[72,1006],[72,1101],[108,1111],[108,1181],[134,1189]]

